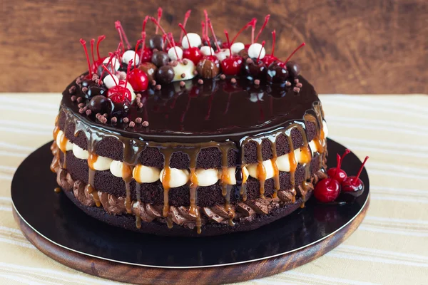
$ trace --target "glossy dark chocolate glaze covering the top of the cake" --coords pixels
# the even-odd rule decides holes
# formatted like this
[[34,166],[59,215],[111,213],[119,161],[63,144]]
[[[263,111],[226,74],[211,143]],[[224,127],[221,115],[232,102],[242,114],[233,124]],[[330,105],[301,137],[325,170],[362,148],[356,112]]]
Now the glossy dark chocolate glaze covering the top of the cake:
[[[61,105],[86,123],[130,138],[156,142],[239,142],[248,135],[270,132],[303,120],[319,99],[305,78],[299,76],[298,80],[302,83],[298,93],[293,91],[294,84],[256,86],[246,78],[237,79],[234,84],[230,78],[204,79],[203,84],[194,78],[184,81],[183,87],[179,82],[162,86],[161,90],[149,86],[140,92],[143,108],[132,104],[127,123],[123,120],[101,123],[93,115],[79,113],[78,102],[71,100],[69,92],[76,83],[71,83],[63,92]],[[74,95],[83,97],[81,88],[76,86]],[[150,125],[143,127],[137,123],[131,128],[130,122],[136,122],[137,118],[147,120]]]

